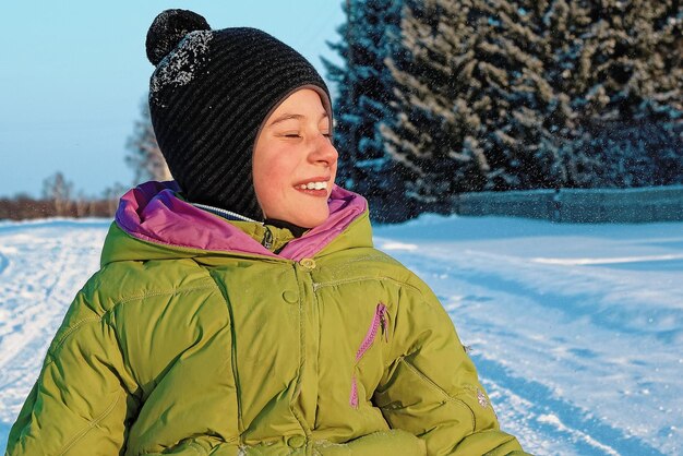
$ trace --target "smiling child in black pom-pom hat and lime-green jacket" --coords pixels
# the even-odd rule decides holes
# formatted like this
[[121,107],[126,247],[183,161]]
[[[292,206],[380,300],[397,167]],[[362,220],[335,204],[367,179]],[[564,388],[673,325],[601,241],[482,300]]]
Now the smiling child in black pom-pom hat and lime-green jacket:
[[523,454],[434,295],[334,184],[313,67],[182,10],[147,56],[177,183],[121,199],[8,454]]

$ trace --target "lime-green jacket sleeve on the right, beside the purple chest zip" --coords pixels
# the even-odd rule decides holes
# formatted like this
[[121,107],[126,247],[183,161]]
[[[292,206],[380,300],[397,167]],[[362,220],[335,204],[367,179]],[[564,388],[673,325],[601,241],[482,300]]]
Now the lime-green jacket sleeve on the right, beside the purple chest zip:
[[402,290],[392,356],[374,403],[390,425],[421,437],[429,455],[524,455],[500,430],[448,314],[427,285]]

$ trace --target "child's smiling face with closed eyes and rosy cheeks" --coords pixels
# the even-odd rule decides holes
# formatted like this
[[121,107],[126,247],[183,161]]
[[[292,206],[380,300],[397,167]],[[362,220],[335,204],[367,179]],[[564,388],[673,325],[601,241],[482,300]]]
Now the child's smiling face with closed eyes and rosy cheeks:
[[337,151],[320,96],[295,92],[266,119],[254,147],[256,199],[266,218],[313,228],[327,219]]

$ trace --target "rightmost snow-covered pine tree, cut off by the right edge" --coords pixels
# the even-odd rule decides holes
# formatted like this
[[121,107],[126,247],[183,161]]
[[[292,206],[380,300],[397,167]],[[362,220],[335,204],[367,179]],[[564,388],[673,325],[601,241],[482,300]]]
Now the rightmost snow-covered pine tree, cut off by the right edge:
[[567,101],[571,187],[683,180],[683,9],[678,0],[555,0],[544,77]]

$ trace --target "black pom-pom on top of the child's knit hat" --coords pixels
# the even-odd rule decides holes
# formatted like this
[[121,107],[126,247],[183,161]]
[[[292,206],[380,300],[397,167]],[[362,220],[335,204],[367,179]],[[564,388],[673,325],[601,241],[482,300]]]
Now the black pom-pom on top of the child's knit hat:
[[187,34],[194,31],[211,31],[206,20],[197,13],[188,10],[159,13],[147,32],[147,59],[153,65],[159,64]]

